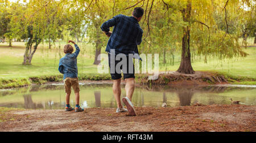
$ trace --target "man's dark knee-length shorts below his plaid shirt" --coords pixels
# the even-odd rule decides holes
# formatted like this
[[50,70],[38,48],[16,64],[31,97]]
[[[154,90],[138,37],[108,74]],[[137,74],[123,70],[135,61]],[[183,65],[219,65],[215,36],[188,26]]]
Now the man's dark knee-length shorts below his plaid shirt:
[[[117,67],[117,64],[123,60],[123,58],[120,58],[119,60],[117,60],[117,59],[116,59],[117,56],[118,56],[118,55],[114,55],[113,57],[111,57],[111,55],[108,53],[108,57],[109,57],[109,68],[110,68],[110,75],[111,75],[111,78],[112,78],[113,80],[121,79],[121,77],[122,77],[122,75],[121,75],[121,70],[122,70],[122,72],[123,72],[123,79],[135,78],[135,76],[134,76],[133,58],[131,58],[131,59],[129,60],[129,56],[126,56],[127,62],[125,62],[122,66],[120,66],[120,68],[119,68],[119,66],[118,66],[118,68],[112,69],[112,67],[113,67],[113,68]],[[114,60],[113,60],[113,59],[111,60],[111,58],[114,58]],[[114,63],[113,63],[113,61],[114,61]],[[121,63],[120,63],[120,64],[121,64]],[[118,64],[118,65],[120,65],[120,64]],[[110,65],[112,65],[112,66],[110,66]],[[126,70],[125,68],[126,68],[127,70]],[[133,68],[133,69],[131,69],[131,68]],[[130,69],[130,72],[129,72],[129,69]],[[126,71],[126,72],[125,72],[125,71]],[[113,72],[113,73],[112,73],[112,72]]]

